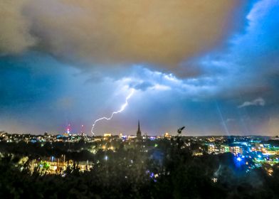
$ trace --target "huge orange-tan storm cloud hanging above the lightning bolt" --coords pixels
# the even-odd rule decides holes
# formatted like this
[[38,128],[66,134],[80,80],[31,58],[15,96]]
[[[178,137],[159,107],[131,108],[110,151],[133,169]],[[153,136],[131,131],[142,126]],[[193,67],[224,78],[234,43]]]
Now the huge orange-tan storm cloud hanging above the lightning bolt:
[[0,49],[18,53],[32,46],[94,65],[149,63],[172,70],[228,35],[239,2],[5,0]]

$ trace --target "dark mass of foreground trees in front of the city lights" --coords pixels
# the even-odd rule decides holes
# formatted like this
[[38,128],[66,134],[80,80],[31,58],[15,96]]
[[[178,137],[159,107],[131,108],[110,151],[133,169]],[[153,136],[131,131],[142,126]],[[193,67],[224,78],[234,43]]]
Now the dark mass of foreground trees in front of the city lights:
[[237,164],[232,154],[192,156],[179,136],[157,141],[148,152],[141,144],[132,148],[120,144],[116,151],[85,155],[94,166],[84,173],[78,170],[78,158],[73,158],[76,163],[64,177],[31,173],[28,163],[19,163],[23,154],[30,157],[36,150],[45,150],[37,154],[48,156],[71,149],[69,153],[80,155],[87,151],[86,144],[80,144],[83,150],[67,144],[47,148],[34,144],[16,151],[20,148],[2,145],[0,198],[279,198],[278,166],[269,176],[265,166],[246,172],[248,166]]

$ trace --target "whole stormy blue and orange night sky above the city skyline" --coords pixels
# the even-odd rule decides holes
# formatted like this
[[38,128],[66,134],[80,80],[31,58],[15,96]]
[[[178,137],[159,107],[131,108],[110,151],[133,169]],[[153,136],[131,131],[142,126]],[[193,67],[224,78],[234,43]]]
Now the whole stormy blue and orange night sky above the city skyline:
[[0,131],[279,134],[279,1],[1,0]]

